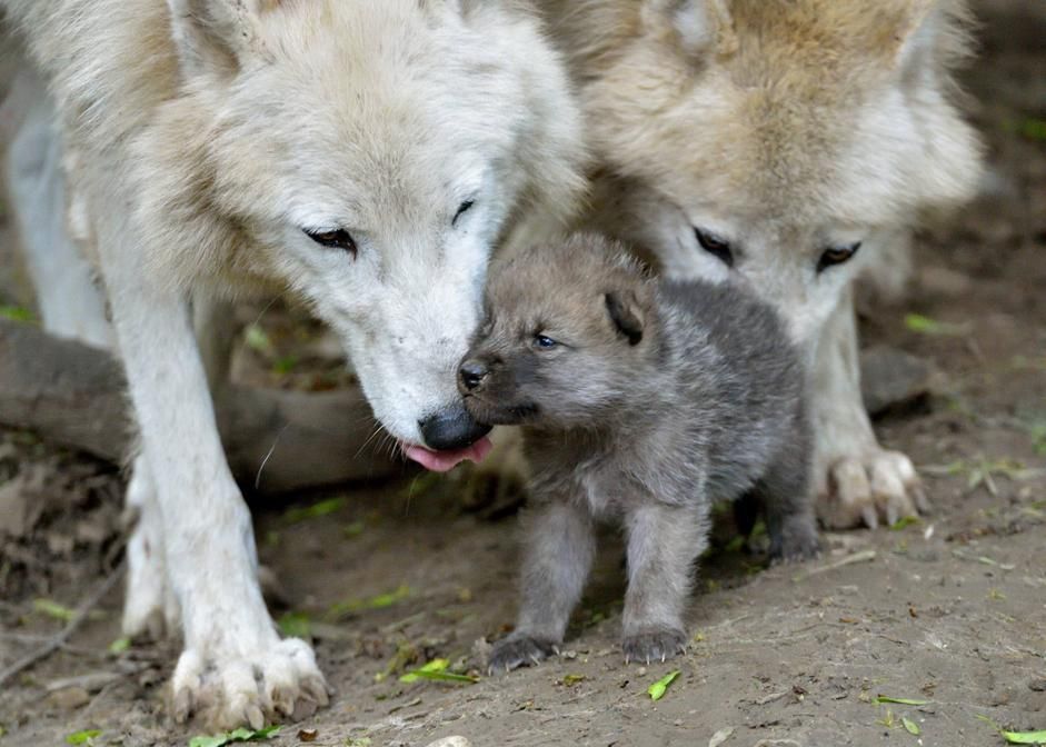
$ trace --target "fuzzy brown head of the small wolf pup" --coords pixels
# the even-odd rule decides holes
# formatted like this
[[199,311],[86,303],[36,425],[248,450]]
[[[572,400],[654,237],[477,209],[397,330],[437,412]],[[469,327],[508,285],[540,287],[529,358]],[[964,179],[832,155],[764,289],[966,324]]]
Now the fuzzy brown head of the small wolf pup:
[[575,235],[516,252],[491,270],[485,307],[458,369],[479,422],[594,427],[635,398],[655,346],[655,287],[620,247]]

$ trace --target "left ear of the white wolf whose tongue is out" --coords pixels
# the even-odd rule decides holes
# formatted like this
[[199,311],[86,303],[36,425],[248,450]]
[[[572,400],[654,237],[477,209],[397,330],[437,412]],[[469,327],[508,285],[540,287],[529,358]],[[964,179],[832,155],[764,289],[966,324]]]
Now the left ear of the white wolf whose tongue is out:
[[182,72],[233,77],[261,49],[257,22],[272,0],[167,0]]

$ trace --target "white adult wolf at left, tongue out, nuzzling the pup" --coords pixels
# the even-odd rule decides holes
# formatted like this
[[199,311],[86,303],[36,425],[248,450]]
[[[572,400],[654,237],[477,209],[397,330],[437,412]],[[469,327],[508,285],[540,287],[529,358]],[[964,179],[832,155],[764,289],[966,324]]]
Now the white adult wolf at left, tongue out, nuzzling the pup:
[[[298,293],[340,335],[409,456],[435,468],[480,456],[455,370],[489,255],[521,216],[569,211],[584,183],[559,58],[517,0],[0,6],[46,81],[62,146],[34,109],[11,162],[19,207],[36,211],[19,221],[23,239],[71,257],[53,223],[61,158],[141,432],[124,624],[180,622],[179,719],[260,726],[322,704],[312,651],[280,640],[259,591],[190,297]],[[30,265],[53,300],[66,263]],[[58,331],[107,339],[100,320],[49,316]]]

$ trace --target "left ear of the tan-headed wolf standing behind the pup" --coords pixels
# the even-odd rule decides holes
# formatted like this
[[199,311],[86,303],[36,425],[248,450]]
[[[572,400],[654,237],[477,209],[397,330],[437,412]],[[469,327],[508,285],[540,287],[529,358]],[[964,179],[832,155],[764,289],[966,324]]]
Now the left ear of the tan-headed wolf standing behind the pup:
[[687,57],[737,50],[727,0],[645,0],[642,13],[648,27],[668,31]]

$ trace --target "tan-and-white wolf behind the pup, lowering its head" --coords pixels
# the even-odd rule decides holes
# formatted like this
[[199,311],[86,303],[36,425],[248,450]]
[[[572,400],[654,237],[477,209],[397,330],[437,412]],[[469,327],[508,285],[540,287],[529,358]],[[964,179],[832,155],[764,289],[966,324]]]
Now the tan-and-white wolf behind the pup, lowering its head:
[[[811,363],[820,512],[926,507],[861,405],[853,281],[903,277],[909,229],[970,198],[953,101],[960,0],[544,0],[601,171],[590,222],[670,276],[736,275]],[[859,249],[859,251],[858,251]]]

